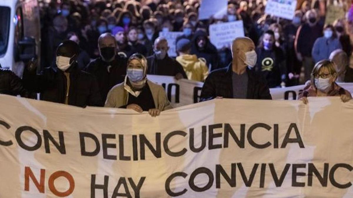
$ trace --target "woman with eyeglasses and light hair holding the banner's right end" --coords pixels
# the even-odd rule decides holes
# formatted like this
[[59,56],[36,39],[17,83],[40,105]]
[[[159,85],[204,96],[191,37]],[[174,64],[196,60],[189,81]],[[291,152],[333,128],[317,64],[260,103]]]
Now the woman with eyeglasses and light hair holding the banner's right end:
[[304,104],[308,103],[307,97],[340,96],[344,103],[351,100],[351,93],[335,82],[337,79],[335,68],[335,63],[329,60],[316,63],[311,72],[311,82],[299,95],[299,100]]

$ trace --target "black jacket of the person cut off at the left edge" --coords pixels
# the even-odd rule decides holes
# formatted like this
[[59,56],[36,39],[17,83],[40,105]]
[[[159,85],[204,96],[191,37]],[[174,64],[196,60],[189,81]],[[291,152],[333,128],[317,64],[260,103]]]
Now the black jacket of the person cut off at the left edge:
[[0,68],[0,94],[21,95],[22,97],[29,95],[22,80],[11,70],[2,68]]

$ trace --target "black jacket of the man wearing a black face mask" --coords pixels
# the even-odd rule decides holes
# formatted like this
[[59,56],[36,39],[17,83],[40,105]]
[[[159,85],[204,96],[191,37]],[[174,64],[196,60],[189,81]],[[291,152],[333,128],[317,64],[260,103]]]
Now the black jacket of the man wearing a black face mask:
[[93,74],[98,81],[103,102],[106,101],[109,90],[124,81],[126,66],[127,59],[116,55],[115,59],[110,63],[104,62],[102,58],[99,57],[91,61],[86,67],[85,71]]

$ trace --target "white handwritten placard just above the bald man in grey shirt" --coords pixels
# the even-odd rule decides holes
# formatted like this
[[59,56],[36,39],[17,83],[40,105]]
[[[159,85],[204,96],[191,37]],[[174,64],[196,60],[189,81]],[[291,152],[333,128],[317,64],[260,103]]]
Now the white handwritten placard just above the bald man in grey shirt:
[[212,24],[209,27],[210,41],[217,49],[230,48],[237,37],[244,36],[243,21]]

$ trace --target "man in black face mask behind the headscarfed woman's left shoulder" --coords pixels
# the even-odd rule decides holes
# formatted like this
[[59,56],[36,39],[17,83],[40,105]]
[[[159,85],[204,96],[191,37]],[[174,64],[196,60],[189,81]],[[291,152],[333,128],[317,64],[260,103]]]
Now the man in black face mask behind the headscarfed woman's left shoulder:
[[103,33],[98,38],[100,57],[91,61],[86,71],[93,74],[98,81],[103,101],[106,101],[109,90],[124,81],[127,59],[116,52],[117,43],[111,33]]

